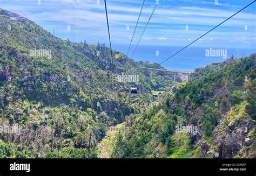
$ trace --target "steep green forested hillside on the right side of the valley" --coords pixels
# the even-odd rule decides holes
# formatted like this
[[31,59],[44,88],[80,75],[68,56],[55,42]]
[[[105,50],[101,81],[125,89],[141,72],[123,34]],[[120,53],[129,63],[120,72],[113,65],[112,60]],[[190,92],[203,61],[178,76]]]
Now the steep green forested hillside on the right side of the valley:
[[197,69],[176,93],[129,117],[111,157],[255,158],[255,63],[252,54]]

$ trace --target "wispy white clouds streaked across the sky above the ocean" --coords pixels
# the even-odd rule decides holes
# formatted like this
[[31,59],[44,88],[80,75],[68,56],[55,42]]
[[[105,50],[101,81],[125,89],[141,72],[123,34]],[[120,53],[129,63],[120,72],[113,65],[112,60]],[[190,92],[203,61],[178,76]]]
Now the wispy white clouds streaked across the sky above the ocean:
[[[80,35],[79,39],[90,36],[96,40],[102,40],[100,42],[108,42],[103,0],[100,0],[99,5],[97,5],[96,0],[45,0],[42,1],[42,5],[37,5],[36,1],[24,1],[26,3],[21,4],[11,3],[11,1],[6,2],[3,3],[4,9],[22,14],[27,13],[29,19],[39,25],[44,24],[43,27],[48,30],[52,30],[54,27],[56,33],[62,33],[63,35],[75,33],[76,36]],[[118,3],[119,5],[117,5]],[[126,4],[120,5],[120,3]],[[140,5],[136,7],[134,3],[140,4],[141,2],[132,0],[107,2],[110,33],[114,40],[129,43],[140,9]],[[220,6],[228,6],[228,4],[224,3],[220,4]],[[230,8],[235,8],[235,5],[230,6]],[[172,41],[185,43],[188,39],[193,40],[233,15],[235,10],[230,8],[220,10],[201,6],[174,7],[159,5],[147,27],[142,44],[148,43],[146,41],[149,40],[152,43],[161,44],[171,44]],[[134,36],[134,43],[137,42],[142,33],[152,9],[151,5],[146,5],[143,9],[136,36]],[[254,13],[241,12],[198,42],[204,43],[206,40],[209,41],[211,38],[216,38],[216,40],[225,43],[225,40],[233,39],[237,41],[236,37],[239,36],[241,43],[251,40],[251,44],[253,44],[256,39],[255,18],[256,15]],[[66,31],[66,25],[71,25],[69,33]],[[126,30],[126,25],[130,26],[130,31]],[[189,25],[188,31],[185,31],[185,25]],[[244,25],[248,25],[248,31],[244,30]]]

